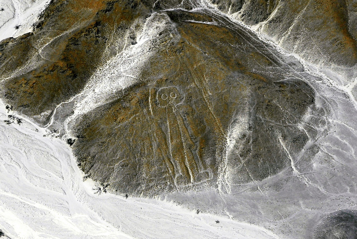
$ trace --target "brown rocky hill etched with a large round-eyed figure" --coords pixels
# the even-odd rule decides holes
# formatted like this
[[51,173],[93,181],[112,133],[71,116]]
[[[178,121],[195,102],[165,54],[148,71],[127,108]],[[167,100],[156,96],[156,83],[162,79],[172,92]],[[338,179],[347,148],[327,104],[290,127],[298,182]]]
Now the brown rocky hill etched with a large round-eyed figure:
[[164,14],[175,31],[141,82],[77,120],[84,172],[119,192],[152,195],[229,190],[290,167],[289,155],[309,140],[298,125],[315,98],[297,63],[219,16]]

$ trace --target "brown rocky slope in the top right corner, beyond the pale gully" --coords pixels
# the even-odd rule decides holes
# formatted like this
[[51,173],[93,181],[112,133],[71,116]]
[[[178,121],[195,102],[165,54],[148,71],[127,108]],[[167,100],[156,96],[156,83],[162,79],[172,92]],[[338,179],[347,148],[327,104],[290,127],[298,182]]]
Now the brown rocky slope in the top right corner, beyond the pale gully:
[[352,0],[211,0],[271,37],[290,52],[317,64],[357,63],[357,3]]

